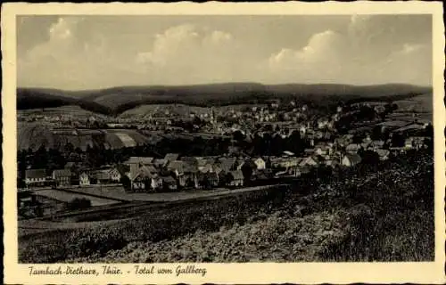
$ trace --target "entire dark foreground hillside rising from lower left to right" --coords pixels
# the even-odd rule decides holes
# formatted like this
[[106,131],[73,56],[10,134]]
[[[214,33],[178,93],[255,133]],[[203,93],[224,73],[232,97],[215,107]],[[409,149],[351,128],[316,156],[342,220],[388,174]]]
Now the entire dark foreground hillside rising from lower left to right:
[[[428,261],[432,153],[19,240],[21,262]],[[255,259],[253,256],[257,256]]]

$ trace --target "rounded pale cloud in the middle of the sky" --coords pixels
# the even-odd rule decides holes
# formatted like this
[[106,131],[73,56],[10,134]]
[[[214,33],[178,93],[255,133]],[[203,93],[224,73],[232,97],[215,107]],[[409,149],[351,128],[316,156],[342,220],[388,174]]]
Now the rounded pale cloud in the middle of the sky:
[[135,61],[143,72],[157,69],[166,84],[231,80],[235,46],[227,32],[184,24],[156,35],[151,48],[137,53]]

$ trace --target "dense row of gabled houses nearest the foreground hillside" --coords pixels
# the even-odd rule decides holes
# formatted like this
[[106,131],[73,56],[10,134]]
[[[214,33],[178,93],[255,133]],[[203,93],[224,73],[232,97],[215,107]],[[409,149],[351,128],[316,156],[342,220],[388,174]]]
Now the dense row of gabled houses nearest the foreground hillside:
[[[335,142],[318,143],[305,150],[303,157],[284,151],[280,157],[180,157],[169,153],[163,159],[132,157],[125,162],[129,167],[129,188],[132,191],[156,191],[162,188],[207,189],[218,186],[243,186],[248,180],[297,177],[313,167],[353,167],[362,158],[360,150],[376,151],[381,160],[391,151],[384,150],[384,142],[365,139],[351,143],[353,136],[344,135]],[[401,150],[399,150],[401,151]],[[248,177],[249,176],[249,177]]]

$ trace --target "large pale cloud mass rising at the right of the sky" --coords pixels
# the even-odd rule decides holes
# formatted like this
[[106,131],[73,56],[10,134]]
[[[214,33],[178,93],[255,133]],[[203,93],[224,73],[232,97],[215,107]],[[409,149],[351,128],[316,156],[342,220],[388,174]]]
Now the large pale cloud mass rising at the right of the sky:
[[381,20],[354,15],[344,34],[326,30],[311,36],[304,47],[282,48],[268,59],[271,79],[366,85],[430,84],[431,46],[418,44],[409,34],[406,36],[410,42],[401,43],[398,35],[403,28],[401,22],[406,19],[395,20],[394,25],[385,22],[384,26]]

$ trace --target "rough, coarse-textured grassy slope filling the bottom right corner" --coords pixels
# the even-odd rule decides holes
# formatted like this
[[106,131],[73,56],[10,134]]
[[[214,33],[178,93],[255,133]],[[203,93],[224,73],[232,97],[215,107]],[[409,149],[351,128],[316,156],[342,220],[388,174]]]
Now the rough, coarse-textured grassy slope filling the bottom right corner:
[[156,243],[132,242],[103,258],[80,261],[433,260],[433,169],[429,159],[418,162],[422,167],[405,172],[399,172],[399,164],[389,165],[391,174],[371,175],[360,188],[338,188],[345,185],[332,183],[331,190],[322,187],[298,199],[300,206],[285,203],[259,221],[254,215],[246,224],[219,232],[198,231]]

